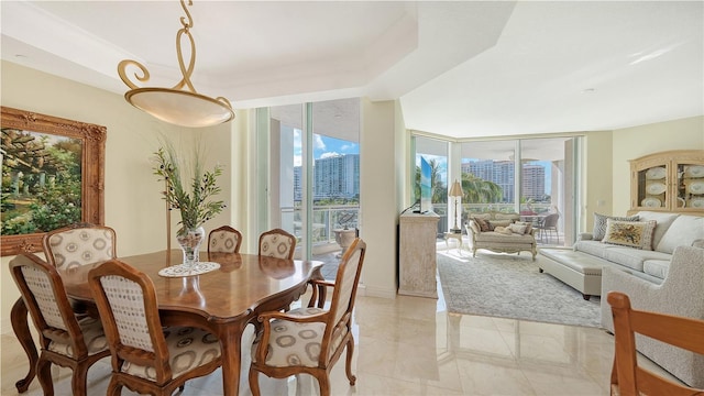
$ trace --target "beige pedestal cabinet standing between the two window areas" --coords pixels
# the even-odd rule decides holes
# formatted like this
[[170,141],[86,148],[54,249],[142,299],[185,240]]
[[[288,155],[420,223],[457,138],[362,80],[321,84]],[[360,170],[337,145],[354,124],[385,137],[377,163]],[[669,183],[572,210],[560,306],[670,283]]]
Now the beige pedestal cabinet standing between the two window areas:
[[440,217],[436,213],[400,216],[398,294],[438,298],[436,278],[438,220]]

